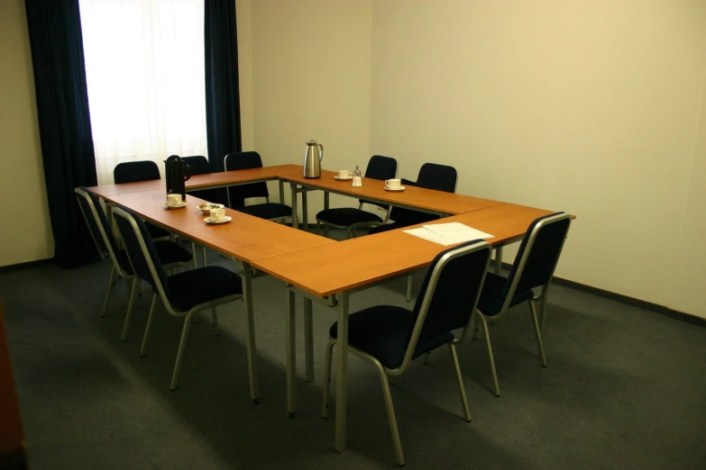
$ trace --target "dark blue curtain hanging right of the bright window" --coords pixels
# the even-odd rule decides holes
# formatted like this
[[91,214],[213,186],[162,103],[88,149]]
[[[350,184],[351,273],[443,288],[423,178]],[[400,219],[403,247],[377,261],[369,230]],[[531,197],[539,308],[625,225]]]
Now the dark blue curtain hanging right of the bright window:
[[206,0],[204,18],[208,160],[223,171],[225,156],[243,149],[235,0]]

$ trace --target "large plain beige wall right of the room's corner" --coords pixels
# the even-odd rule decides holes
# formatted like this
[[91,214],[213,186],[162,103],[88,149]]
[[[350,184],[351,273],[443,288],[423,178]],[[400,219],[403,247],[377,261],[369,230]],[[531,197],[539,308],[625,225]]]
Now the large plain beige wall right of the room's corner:
[[376,0],[371,152],[572,212],[558,276],[706,316],[672,282],[706,261],[705,68],[702,2]]

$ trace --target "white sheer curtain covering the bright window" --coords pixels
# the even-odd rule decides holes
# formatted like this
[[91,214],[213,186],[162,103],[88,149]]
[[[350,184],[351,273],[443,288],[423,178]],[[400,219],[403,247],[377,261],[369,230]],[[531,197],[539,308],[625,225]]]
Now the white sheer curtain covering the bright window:
[[204,0],[79,0],[98,184],[113,168],[206,156]]

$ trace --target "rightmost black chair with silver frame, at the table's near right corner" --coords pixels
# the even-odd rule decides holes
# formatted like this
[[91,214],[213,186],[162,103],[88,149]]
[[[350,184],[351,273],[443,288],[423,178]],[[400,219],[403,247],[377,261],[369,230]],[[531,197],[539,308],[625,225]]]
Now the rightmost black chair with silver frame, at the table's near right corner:
[[[537,316],[536,303],[540,303],[539,316],[544,321],[546,294],[552,281],[556,264],[564,248],[564,240],[571,226],[571,215],[564,212],[540,217],[533,221],[522,243],[519,246],[515,263],[509,276],[499,276],[489,273],[478,302],[478,318],[481,320],[485,341],[488,346],[488,357],[491,363],[491,373],[495,395],[500,396],[500,384],[495,371],[495,359],[492,354],[491,335],[488,331],[488,321],[497,320],[510,307],[519,303],[529,302],[529,312],[532,315],[532,325],[535,330],[536,346],[542,366],[546,367],[545,348],[542,342],[542,331]],[[539,294],[534,289],[541,288]]]

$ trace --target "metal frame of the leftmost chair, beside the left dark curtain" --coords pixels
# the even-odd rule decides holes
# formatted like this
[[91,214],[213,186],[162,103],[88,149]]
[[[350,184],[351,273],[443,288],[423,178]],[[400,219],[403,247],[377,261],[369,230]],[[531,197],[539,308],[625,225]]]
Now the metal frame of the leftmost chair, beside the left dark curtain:
[[[101,310],[100,314],[101,317],[105,317],[105,309],[107,308],[108,299],[110,298],[110,294],[113,291],[113,285],[115,285],[115,274],[124,278],[125,282],[127,282],[128,280],[132,281],[128,291],[130,294],[127,301],[127,312],[125,313],[123,334],[120,337],[121,341],[125,341],[127,339],[127,331],[130,327],[130,320],[133,315],[134,299],[137,289],[140,285],[140,278],[134,274],[131,275],[124,272],[123,267],[120,266],[120,261],[118,261],[117,256],[115,255],[115,247],[113,246],[113,243],[110,242],[110,239],[108,238],[108,235],[105,232],[106,227],[104,226],[103,222],[100,219],[100,216],[98,215],[97,211],[99,209],[96,207],[96,204],[93,203],[93,200],[87,194],[87,191],[81,187],[77,187],[74,189],[74,193],[76,193],[78,197],[82,197],[87,201],[88,206],[91,210],[90,214],[87,214],[84,211],[82,204],[78,204],[78,207],[81,209],[81,212],[83,213],[85,219],[87,219],[88,217],[93,217],[93,220],[96,222],[96,227],[98,228],[101,238],[103,239],[103,243],[105,245],[107,253],[105,253],[105,251],[101,248],[101,245],[98,240],[96,240],[96,236],[94,235],[93,230],[88,230],[91,233],[91,238],[93,239],[93,242],[96,244],[98,256],[104,261],[109,260],[111,261],[111,263],[113,263],[113,267],[110,270],[110,276],[108,277],[108,286],[105,289],[105,300],[103,301],[103,309]],[[186,269],[190,262],[191,261],[185,263],[171,263],[169,265],[165,265],[164,267],[165,269],[173,269],[176,267],[184,267]]]

